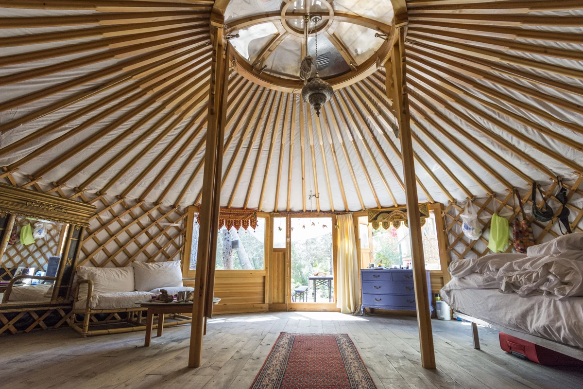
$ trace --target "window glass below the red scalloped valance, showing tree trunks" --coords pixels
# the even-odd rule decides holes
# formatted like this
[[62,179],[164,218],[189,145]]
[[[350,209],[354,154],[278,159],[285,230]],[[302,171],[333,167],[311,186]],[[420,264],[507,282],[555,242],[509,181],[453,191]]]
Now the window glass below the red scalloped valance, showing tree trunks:
[[262,270],[265,260],[265,218],[257,218],[257,228],[227,230],[217,236],[216,269]]

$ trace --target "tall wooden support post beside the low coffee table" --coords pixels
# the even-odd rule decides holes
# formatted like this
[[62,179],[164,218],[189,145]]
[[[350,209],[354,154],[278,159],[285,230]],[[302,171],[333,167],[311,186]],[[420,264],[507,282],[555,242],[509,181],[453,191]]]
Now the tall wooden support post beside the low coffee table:
[[229,57],[226,51],[229,44],[224,39],[223,17],[212,15],[210,19],[213,62],[206,130],[205,173],[202,181],[201,229],[198,237],[198,257],[196,258],[196,281],[194,286],[196,295],[192,306],[192,330],[188,367],[201,366],[202,337],[205,332],[206,317],[212,317],[224,127],[227,123]]

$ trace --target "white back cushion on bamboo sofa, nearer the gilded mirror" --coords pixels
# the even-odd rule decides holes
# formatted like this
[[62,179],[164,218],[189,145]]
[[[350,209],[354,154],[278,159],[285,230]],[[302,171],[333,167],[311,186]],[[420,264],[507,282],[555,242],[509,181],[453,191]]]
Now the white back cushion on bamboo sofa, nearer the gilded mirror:
[[[90,279],[93,281],[93,295],[103,293],[133,292],[134,268],[92,268],[80,266],[77,268],[78,279]],[[79,299],[87,299],[87,284],[82,283],[79,289]]]

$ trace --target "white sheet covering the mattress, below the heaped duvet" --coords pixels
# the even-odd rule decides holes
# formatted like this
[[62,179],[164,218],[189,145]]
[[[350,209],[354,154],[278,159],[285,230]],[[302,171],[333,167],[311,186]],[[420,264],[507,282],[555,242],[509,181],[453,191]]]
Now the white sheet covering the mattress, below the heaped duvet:
[[[468,280],[466,280],[468,281]],[[498,289],[465,289],[453,279],[441,297],[454,310],[491,324],[583,348],[583,297],[521,297]],[[450,285],[451,284],[451,285]]]

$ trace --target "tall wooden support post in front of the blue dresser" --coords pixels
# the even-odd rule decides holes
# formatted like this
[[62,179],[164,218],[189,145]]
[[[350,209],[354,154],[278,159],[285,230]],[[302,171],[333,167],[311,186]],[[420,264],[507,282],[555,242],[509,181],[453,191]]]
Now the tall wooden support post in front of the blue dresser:
[[419,199],[417,198],[417,183],[415,181],[415,159],[411,139],[409,99],[407,96],[407,73],[405,67],[406,20],[405,22],[401,20],[401,23],[397,23],[397,20],[395,20],[395,25],[398,26],[396,29],[398,36],[391,51],[394,90],[392,100],[398,115],[399,138],[401,139],[403,181],[405,183],[405,198],[409,219],[409,239],[411,241],[417,323],[419,324],[421,364],[425,369],[435,369],[436,359],[433,350],[431,313],[429,310],[431,302],[428,299],[425,260],[423,258],[423,236],[419,219]]

